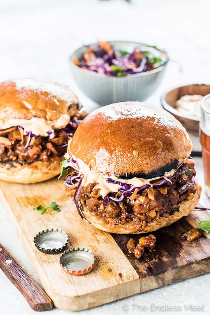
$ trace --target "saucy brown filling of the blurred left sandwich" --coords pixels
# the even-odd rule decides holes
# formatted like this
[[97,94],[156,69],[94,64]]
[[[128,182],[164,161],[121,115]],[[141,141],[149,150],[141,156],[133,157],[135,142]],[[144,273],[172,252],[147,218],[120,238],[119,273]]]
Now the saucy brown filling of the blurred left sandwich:
[[4,130],[1,130],[0,163],[13,165],[13,162],[30,164],[35,161],[60,161],[76,128],[77,124],[72,128],[71,133],[65,128],[54,130],[55,135],[53,139],[39,135],[32,137],[28,147],[26,147],[28,136],[21,135],[20,128],[11,127],[9,128],[11,131],[6,133],[3,133]]

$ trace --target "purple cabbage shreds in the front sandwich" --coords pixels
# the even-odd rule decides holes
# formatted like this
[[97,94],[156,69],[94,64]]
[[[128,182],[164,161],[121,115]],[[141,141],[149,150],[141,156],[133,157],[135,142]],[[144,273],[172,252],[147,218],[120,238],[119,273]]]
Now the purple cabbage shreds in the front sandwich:
[[[71,164],[72,164],[73,168],[78,171],[77,161],[74,160],[72,157],[70,157],[69,160],[71,161]],[[182,167],[184,167],[184,169]],[[107,178],[106,181],[108,183],[117,184],[117,185],[120,186],[120,188],[118,189],[118,192],[122,192],[122,195],[119,198],[111,197],[111,196],[108,196],[108,195],[105,196],[104,200],[103,200],[103,205],[104,205],[104,207],[107,207],[109,205],[109,203],[110,203],[110,200],[113,200],[113,201],[116,201],[116,202],[120,202],[120,201],[123,201],[123,200],[126,200],[126,199],[128,199],[131,204],[134,204],[134,200],[131,200],[130,196],[133,194],[135,189],[139,188],[138,191],[137,191],[137,194],[139,194],[140,192],[144,191],[146,188],[149,188],[149,187],[161,187],[162,185],[167,184],[167,183],[170,183],[172,185],[172,181],[171,180],[173,178],[175,178],[175,177],[177,177],[179,175],[185,174],[189,170],[188,166],[187,166],[187,163],[182,163],[182,165],[178,169],[180,169],[180,171],[177,174],[175,174],[173,176],[170,176],[169,178],[167,178],[167,177],[160,178],[161,182],[158,183],[158,184],[148,183],[148,184],[146,184],[144,186],[141,186],[141,187],[136,187],[136,186],[133,186],[131,184],[127,184],[127,183],[123,183],[123,182],[120,182],[120,181],[113,180],[111,178]],[[188,176],[192,178],[192,182],[187,181],[187,184],[188,185],[194,185],[195,184],[195,176],[193,176],[191,174],[189,174]],[[82,190],[82,178],[81,178],[81,175],[80,174],[78,174],[76,176],[68,175],[67,178],[68,178],[68,180],[64,181],[64,184],[67,187],[74,186],[79,181],[79,184],[77,186],[77,190],[76,190],[75,195],[74,195],[74,201],[75,201],[75,204],[76,204],[77,211],[78,211],[79,215],[82,217],[83,220],[87,221],[83,217],[83,215],[82,215],[82,213],[81,213],[81,211],[79,209],[79,204],[78,204],[78,198],[79,198],[79,195],[80,195],[81,190]]]

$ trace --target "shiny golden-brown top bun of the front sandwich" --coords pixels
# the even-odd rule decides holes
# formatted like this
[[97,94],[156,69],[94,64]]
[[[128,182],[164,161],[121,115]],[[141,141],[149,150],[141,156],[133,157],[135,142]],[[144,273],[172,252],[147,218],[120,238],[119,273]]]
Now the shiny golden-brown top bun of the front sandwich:
[[69,154],[96,173],[153,178],[176,168],[191,149],[186,130],[170,113],[144,102],[121,102],[90,113]]

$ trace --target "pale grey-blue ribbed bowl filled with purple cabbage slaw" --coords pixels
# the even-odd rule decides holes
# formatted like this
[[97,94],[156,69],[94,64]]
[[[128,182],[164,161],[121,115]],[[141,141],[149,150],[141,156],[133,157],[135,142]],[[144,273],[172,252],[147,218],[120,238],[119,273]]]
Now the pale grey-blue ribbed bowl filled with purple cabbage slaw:
[[70,66],[79,89],[103,106],[146,100],[161,83],[168,60],[156,46],[110,41],[80,47]]

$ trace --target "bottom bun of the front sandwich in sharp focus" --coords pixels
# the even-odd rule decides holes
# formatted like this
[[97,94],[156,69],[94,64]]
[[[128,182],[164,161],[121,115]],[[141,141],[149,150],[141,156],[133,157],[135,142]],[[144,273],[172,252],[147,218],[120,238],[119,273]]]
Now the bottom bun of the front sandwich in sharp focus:
[[94,227],[96,227],[99,230],[111,232],[111,233],[117,233],[117,234],[139,234],[139,233],[149,233],[156,231],[164,226],[169,226],[172,223],[178,221],[183,216],[189,215],[189,213],[194,210],[197,203],[199,202],[200,195],[201,195],[201,186],[196,184],[197,191],[194,195],[194,198],[192,200],[184,201],[178,205],[176,205],[175,208],[179,207],[179,211],[175,211],[173,215],[170,215],[167,213],[165,216],[160,217],[159,219],[148,223],[143,229],[141,228],[141,225],[138,224],[138,222],[128,222],[125,224],[109,224],[104,222],[99,215],[94,215],[86,207],[83,207],[80,203],[80,209],[82,210],[82,214],[84,217],[92,223]]

